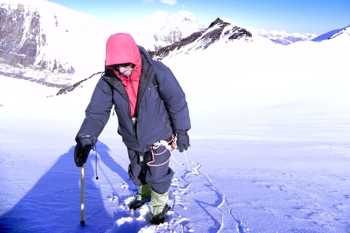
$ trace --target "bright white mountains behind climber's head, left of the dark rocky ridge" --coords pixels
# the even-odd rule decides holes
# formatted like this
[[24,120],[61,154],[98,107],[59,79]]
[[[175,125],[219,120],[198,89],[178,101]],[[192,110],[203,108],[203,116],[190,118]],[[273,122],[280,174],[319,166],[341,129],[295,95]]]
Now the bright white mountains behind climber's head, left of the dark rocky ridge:
[[186,11],[156,12],[135,20],[140,30],[134,31],[129,22],[105,22],[44,0],[6,0],[0,15],[1,75],[43,85],[72,85],[102,71],[105,44],[114,33],[130,33],[137,44],[155,50],[205,27]]

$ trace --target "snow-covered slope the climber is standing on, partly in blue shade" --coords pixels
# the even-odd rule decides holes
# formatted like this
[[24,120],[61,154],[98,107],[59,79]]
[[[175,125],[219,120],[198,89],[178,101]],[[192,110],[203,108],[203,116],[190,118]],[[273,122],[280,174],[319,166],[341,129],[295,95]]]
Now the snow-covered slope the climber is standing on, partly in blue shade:
[[348,43],[217,42],[163,60],[193,127],[186,157],[171,160],[172,209],[159,226],[147,206],[127,208],[136,188],[115,115],[97,143],[98,180],[94,152],[86,163],[79,224],[74,138],[98,76],[53,97],[0,77],[0,232],[350,232]]

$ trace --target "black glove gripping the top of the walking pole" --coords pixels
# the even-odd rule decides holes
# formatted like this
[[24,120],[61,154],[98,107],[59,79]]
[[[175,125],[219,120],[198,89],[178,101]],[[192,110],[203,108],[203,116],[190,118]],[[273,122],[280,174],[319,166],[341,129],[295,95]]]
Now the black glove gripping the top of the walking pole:
[[97,142],[96,136],[82,137],[77,140],[77,145],[74,149],[74,161],[77,167],[82,167],[86,163],[87,156],[89,156],[90,150],[95,146]]

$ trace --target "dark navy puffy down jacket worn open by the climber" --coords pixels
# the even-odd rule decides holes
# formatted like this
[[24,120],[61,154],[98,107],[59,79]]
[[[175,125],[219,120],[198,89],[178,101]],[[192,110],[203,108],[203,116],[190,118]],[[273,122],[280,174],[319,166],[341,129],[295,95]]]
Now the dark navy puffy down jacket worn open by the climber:
[[[137,97],[136,130],[130,118],[130,102],[124,85],[110,69],[98,81],[91,102],[85,110],[76,140],[83,136],[98,137],[110,118],[113,105],[118,116],[118,133],[127,148],[146,152],[151,145],[174,135],[176,130],[190,129],[185,94],[171,70],[160,61],[153,61],[147,51],[138,46],[142,59]],[[152,83],[155,76],[158,90]]]

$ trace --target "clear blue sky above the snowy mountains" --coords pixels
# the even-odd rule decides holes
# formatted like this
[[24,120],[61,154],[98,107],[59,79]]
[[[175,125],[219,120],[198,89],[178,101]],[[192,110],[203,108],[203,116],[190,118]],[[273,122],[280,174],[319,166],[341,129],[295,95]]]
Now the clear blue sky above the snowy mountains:
[[321,34],[350,24],[350,0],[49,0],[106,21],[123,23],[157,10],[187,10],[197,21],[210,24],[228,18],[245,27]]

